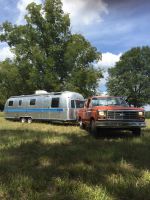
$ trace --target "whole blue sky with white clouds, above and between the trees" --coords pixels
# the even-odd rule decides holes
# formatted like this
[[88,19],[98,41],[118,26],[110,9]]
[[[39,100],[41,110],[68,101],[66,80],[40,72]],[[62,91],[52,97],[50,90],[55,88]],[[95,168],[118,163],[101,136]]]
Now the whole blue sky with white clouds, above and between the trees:
[[[0,24],[5,20],[22,24],[25,7],[32,1],[0,0]],[[149,0],[62,0],[63,9],[70,14],[71,29],[83,34],[103,59],[98,65],[105,70],[114,66],[120,55],[135,46],[150,45]],[[0,60],[11,57],[8,47],[0,43]],[[105,79],[100,91],[105,91]]]

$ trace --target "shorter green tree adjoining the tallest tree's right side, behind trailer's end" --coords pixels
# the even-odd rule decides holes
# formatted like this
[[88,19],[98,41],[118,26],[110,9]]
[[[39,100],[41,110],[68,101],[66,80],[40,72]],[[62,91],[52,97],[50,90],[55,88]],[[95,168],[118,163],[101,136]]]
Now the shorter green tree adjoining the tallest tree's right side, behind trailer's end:
[[95,94],[102,71],[94,67],[93,61],[100,58],[101,54],[82,35],[72,35],[65,52],[65,65],[68,67],[66,88],[86,97]]

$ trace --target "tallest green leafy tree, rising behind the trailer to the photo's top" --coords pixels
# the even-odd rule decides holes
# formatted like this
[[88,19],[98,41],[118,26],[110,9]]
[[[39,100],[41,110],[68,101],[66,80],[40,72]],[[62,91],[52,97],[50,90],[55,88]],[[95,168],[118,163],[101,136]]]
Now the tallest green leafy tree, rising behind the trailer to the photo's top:
[[64,50],[70,36],[69,16],[62,11],[60,0],[27,6],[25,25],[3,23],[1,41],[13,48],[24,85],[23,92],[35,89],[60,89],[63,82]]

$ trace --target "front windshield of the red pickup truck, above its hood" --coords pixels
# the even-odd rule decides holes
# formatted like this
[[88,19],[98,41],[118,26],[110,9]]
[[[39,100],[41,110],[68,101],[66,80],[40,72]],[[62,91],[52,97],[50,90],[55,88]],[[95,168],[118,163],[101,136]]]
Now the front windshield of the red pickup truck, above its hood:
[[128,107],[128,104],[121,97],[99,97],[99,98],[92,99],[92,106],[125,106],[125,107]]

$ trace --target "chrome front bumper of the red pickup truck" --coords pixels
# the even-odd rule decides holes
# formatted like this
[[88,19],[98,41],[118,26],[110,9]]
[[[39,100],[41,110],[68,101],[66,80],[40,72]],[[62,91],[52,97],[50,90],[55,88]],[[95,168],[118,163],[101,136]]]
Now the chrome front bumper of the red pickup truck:
[[127,122],[127,121],[96,121],[96,127],[99,128],[144,128],[145,122]]

